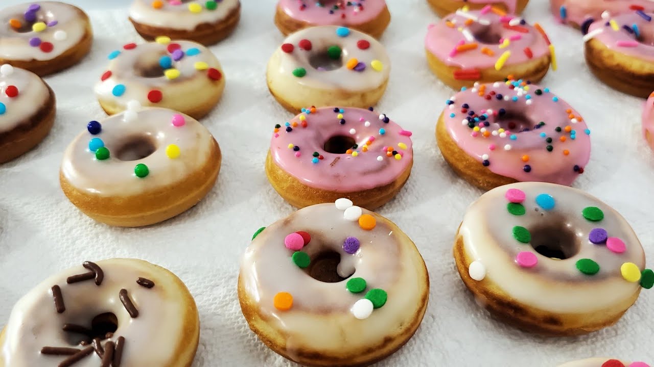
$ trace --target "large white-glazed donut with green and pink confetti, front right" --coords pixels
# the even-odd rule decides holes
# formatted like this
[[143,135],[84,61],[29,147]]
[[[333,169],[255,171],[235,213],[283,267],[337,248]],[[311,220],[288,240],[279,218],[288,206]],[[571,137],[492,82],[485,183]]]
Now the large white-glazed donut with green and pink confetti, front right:
[[553,336],[613,325],[654,284],[613,208],[572,187],[519,182],[481,195],[456,234],[456,268],[506,323]]

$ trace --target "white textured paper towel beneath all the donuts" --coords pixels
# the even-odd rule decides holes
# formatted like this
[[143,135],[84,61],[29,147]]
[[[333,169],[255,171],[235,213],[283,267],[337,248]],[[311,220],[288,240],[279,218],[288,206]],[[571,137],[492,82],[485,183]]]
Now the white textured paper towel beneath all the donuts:
[[[420,249],[431,293],[415,336],[379,366],[553,367],[591,356],[654,362],[651,292],[644,291],[614,327],[579,338],[531,336],[477,307],[456,273],[451,246],[466,206],[481,191],[449,170],[434,139],[434,124],[452,93],[424,59],[427,25],[438,18],[423,0],[390,0],[389,7],[393,19],[381,41],[392,72],[377,110],[413,131],[415,165],[400,195],[379,212]],[[547,10],[544,0],[532,0],[526,10],[526,19],[540,22],[557,45],[560,69],[542,84],[575,106],[593,130],[591,162],[575,186],[621,212],[652,256],[654,152],[640,134],[643,101],[597,82],[585,66],[579,34],[555,24]],[[81,214],[58,180],[65,146],[88,121],[105,116],[92,84],[107,54],[127,42],[141,42],[126,10],[90,11],[92,53],[77,67],[46,78],[58,97],[52,133],[37,149],[0,167],[0,325],[16,300],[50,274],[84,260],[136,257],[175,272],[196,298],[201,338],[194,367],[294,365],[250,332],[236,295],[239,257],[252,233],[294,211],[264,174],[273,125],[290,118],[269,95],[264,78],[267,58],[283,40],[273,13],[273,1],[244,1],[237,31],[211,47],[227,78],[222,101],[202,120],[224,155],[213,191],[165,223],[120,229]]]

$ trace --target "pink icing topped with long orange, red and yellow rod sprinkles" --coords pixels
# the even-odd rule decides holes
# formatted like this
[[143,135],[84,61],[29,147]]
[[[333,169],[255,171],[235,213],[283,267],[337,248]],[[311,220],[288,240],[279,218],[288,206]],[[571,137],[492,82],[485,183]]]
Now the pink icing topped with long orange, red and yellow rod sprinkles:
[[[494,12],[483,10],[459,10],[456,14],[449,14],[441,22],[430,27],[424,46],[431,54],[438,57],[445,64],[461,68],[487,69],[494,67],[498,57],[510,51],[511,56],[505,65],[525,63],[534,57],[549,55],[549,48],[545,38],[531,25],[520,24],[521,20],[513,22],[511,16],[499,16]],[[469,18],[476,21],[466,26],[464,22]],[[513,25],[509,25],[509,22]],[[485,23],[485,24],[483,24]],[[451,25],[454,24],[454,27]],[[459,28],[462,30],[459,31]],[[527,31],[523,33],[521,31]],[[503,46],[503,40],[509,39],[509,45]],[[462,52],[456,51],[456,46],[462,44],[477,44],[477,48]],[[526,52],[528,48],[531,52]],[[484,54],[483,50],[490,52]],[[490,55],[489,55],[490,54]]]

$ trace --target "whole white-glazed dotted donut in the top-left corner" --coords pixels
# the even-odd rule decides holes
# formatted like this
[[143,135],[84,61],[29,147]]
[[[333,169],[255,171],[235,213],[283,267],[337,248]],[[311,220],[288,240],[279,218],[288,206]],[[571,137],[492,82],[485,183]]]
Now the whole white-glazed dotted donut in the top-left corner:
[[35,1],[0,10],[0,65],[52,74],[77,64],[92,41],[88,16],[73,5]]

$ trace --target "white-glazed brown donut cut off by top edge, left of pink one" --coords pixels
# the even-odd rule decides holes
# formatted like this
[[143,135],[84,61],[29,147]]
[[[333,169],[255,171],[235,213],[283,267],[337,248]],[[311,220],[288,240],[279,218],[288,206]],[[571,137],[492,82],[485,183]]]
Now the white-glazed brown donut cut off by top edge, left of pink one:
[[239,0],[134,0],[129,21],[146,40],[167,36],[209,46],[226,38],[241,18]]

